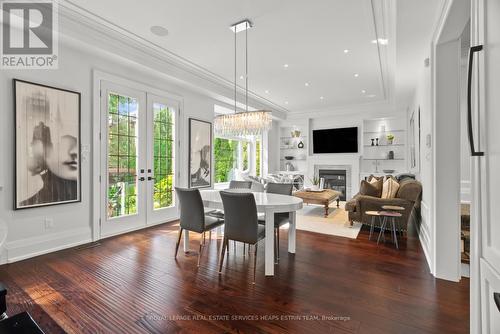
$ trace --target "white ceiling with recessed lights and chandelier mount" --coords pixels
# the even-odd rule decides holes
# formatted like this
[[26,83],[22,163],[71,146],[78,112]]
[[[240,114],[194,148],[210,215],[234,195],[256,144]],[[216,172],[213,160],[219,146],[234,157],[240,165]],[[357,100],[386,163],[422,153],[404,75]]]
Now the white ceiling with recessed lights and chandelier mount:
[[[386,54],[372,43],[377,37],[386,36],[380,27],[377,27],[379,35],[376,34],[373,1],[384,0],[79,0],[74,3],[231,81],[234,35],[229,26],[249,18],[254,23],[248,32],[249,89],[290,111],[307,111],[387,98],[387,81],[384,84],[383,80],[387,75],[383,66],[387,59],[382,59]],[[398,0],[397,4],[404,2],[406,7],[417,11],[415,14],[428,15],[435,10],[433,3],[442,1]],[[423,13],[416,3],[425,3]],[[398,9],[398,16],[399,12]],[[411,36],[416,43],[407,41],[405,56],[402,59],[398,56],[398,62],[405,66],[416,62],[412,45],[420,47],[420,40],[429,38],[428,33],[421,36],[418,31],[424,22],[416,22]],[[151,33],[151,26],[163,26],[169,33],[158,37]],[[237,81],[244,85],[244,80],[239,79],[244,74],[244,33],[237,38],[240,47]],[[390,45],[382,48],[394,47],[394,43],[389,40]],[[344,49],[349,52],[344,53]],[[284,68],[284,64],[289,67]],[[355,73],[359,76],[355,77]],[[412,73],[405,75],[407,84]]]

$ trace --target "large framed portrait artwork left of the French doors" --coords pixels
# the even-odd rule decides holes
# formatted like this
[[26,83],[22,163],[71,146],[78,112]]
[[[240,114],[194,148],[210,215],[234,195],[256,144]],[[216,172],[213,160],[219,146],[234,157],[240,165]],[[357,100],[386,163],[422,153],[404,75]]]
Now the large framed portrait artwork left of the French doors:
[[16,210],[81,201],[80,100],[14,79]]

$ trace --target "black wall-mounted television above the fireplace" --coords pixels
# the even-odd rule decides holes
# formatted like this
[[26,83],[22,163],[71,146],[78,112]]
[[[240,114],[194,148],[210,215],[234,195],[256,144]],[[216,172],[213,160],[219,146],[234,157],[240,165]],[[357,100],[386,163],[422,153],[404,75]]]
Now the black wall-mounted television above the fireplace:
[[313,153],[357,152],[357,127],[313,130]]

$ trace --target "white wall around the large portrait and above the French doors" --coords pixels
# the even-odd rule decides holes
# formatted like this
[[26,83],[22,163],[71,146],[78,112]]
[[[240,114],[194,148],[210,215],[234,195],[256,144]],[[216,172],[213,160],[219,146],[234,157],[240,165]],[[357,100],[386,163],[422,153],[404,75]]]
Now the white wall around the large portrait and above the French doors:
[[[69,40],[68,40],[69,41]],[[79,45],[75,47],[74,45]],[[144,59],[140,60],[144,62]],[[92,152],[82,156],[81,203],[13,210],[14,194],[14,111],[12,79],[18,78],[81,92],[81,144],[92,147],[92,78],[93,70],[122,76],[148,86],[183,97],[181,119],[181,184],[187,180],[187,118],[213,119],[212,98],[173,84],[166,76],[118,55],[103,52],[83,43],[62,42],[58,70],[0,71],[0,219],[8,225],[7,242],[2,262],[12,262],[56,249],[92,240]],[[3,184],[2,184],[3,180]],[[44,219],[53,219],[54,226],[45,228]]]

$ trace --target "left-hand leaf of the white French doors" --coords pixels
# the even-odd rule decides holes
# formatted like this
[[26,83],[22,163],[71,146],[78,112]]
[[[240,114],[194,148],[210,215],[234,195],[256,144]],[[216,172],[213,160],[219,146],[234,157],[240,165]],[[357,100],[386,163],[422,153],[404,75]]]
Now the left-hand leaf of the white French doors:
[[101,212],[103,236],[131,230],[146,223],[144,202],[145,94],[103,83],[101,110]]

